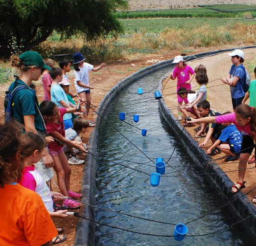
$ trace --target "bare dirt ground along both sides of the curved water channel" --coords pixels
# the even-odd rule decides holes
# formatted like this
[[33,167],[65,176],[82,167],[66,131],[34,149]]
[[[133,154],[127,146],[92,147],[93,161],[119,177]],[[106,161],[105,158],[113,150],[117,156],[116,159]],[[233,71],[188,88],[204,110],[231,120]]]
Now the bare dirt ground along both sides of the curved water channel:
[[[229,47],[219,47],[221,49],[229,48]],[[218,48],[214,48],[218,49]],[[201,53],[206,52],[209,50],[213,50],[213,48],[202,48],[202,49],[196,49],[193,53]],[[112,63],[107,63],[107,68],[101,69],[98,72],[90,72],[90,85],[94,87],[92,90],[92,98],[93,98],[93,105],[99,105],[101,99],[103,96],[107,93],[109,89],[111,89],[114,85],[116,85],[116,81],[120,81],[124,77],[130,75],[131,73],[146,67],[150,66],[152,64],[146,64],[148,60],[152,59],[162,59],[162,60],[168,60],[174,58],[176,55],[179,55],[180,52],[170,52],[168,54],[160,54],[160,55],[147,55],[143,58],[135,58],[134,60],[129,61],[117,61]],[[246,50],[246,59],[251,59],[256,54],[256,49],[254,50]],[[194,61],[191,63],[188,63],[191,67],[196,67],[197,65],[203,63],[208,70],[209,75],[209,81],[214,80],[216,78],[223,77],[226,75],[229,71],[229,68],[231,66],[230,57],[227,54],[222,54],[218,56],[213,56],[210,58],[205,58],[202,60]],[[131,65],[135,64],[136,67],[132,67]],[[93,64],[97,65],[97,64]],[[114,78],[113,78],[114,77]],[[70,83],[72,84],[70,86],[71,92],[75,93],[74,89],[74,73],[71,71],[69,73]],[[222,84],[219,80],[212,82],[210,84],[213,85],[219,85]],[[210,86],[209,84],[209,86]],[[37,96],[39,99],[39,102],[43,99],[43,89],[41,84],[41,79],[37,82],[35,82],[35,85],[37,86]],[[166,88],[170,86],[175,85],[175,82],[168,82],[168,85],[166,85]],[[196,82],[192,82],[192,87],[196,86]],[[8,89],[9,84],[3,84],[0,86],[0,105],[3,105],[4,95],[5,91]],[[175,92],[175,87],[173,89],[164,89],[164,93],[171,93]],[[221,98],[221,100],[220,100]],[[229,88],[225,86],[220,87],[213,87],[212,89],[209,88],[209,101],[212,104],[212,109],[224,112],[227,110],[232,110],[232,104],[231,104],[231,98],[230,98],[230,92]],[[177,99],[175,96],[170,96],[165,98],[165,102],[170,107],[176,106]],[[3,122],[3,107],[0,107],[0,122]],[[94,115],[90,114],[90,119],[93,119]],[[88,136],[90,132],[92,131],[92,128],[88,129],[88,132],[84,134],[83,140],[85,143],[88,142]],[[89,146],[90,147],[90,146]],[[228,169],[237,169],[237,163],[236,164],[230,164],[227,165]],[[80,192],[81,191],[81,178],[82,178],[82,171],[83,166],[71,166],[72,174],[71,174],[71,189]],[[230,173],[231,179],[236,180],[237,174]],[[232,177],[233,175],[233,177]],[[253,187],[254,183],[252,183],[252,180],[254,180],[255,175],[253,175],[253,171],[246,173],[246,179],[248,180],[248,187],[246,187],[245,191],[249,190],[250,187]],[[55,179],[56,181],[56,179]],[[58,188],[56,186],[53,186],[54,190],[58,191]],[[253,194],[252,194],[253,195]],[[64,228],[64,234],[67,235],[67,240],[61,244],[61,246],[72,246],[74,241],[74,235],[75,235],[75,227],[76,227],[76,218],[74,217],[68,217],[67,219],[54,219],[54,222],[57,226]]]

